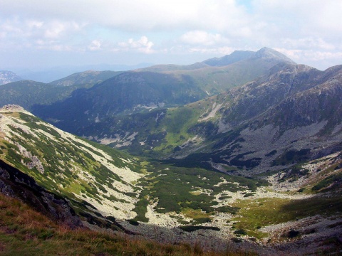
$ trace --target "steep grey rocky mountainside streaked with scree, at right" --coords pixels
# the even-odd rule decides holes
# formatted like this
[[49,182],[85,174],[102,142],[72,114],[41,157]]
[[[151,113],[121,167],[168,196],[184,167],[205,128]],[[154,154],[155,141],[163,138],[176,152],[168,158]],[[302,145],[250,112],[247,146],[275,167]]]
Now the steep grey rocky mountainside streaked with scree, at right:
[[293,66],[227,92],[214,117],[198,123],[212,120],[217,130],[206,161],[266,171],[339,150],[341,70]]

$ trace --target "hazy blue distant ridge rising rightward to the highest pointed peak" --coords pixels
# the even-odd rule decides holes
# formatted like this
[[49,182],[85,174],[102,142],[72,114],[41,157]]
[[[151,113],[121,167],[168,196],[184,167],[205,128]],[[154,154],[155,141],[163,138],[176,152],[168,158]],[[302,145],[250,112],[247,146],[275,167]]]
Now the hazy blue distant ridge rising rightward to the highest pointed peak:
[[150,112],[202,100],[260,76],[267,77],[289,62],[281,53],[265,48],[257,57],[222,67],[204,63],[158,65],[120,73],[94,87],[74,91],[68,99],[36,105],[31,110],[61,129],[77,133],[79,127],[118,114]]

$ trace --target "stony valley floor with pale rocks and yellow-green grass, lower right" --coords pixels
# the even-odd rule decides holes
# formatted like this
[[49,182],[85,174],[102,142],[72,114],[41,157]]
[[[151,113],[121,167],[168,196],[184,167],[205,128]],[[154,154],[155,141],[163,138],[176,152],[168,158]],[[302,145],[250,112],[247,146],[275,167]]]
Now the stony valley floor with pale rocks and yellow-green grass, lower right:
[[[336,191],[311,193],[309,187],[319,175],[318,167],[329,163],[331,155],[316,164],[307,164],[309,176],[279,183],[282,174],[269,177],[271,186],[257,191],[224,191],[227,198],[218,206],[241,208],[239,213],[211,215],[210,223],[187,232],[177,223],[176,213],[160,214],[153,205],[147,206],[149,223],[133,226],[121,223],[128,230],[158,242],[200,245],[204,250],[242,248],[258,255],[338,255],[342,253],[341,188]],[[301,191],[301,188],[306,188]],[[206,191],[202,191],[206,193]],[[245,195],[250,193],[250,196]],[[184,215],[182,220],[187,220]]]

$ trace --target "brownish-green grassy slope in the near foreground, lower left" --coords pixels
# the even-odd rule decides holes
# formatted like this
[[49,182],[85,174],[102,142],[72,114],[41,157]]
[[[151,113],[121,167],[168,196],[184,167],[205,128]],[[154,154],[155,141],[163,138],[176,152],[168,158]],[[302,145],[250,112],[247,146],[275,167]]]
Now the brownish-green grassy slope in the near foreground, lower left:
[[0,194],[0,255],[254,255],[204,252],[199,245],[167,245],[86,229],[70,230],[16,199]]

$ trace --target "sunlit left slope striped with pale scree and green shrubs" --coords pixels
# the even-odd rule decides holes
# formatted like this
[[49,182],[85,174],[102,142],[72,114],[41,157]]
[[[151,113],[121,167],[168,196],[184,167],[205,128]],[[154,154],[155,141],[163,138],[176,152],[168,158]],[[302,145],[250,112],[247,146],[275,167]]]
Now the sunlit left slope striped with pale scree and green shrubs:
[[20,107],[1,109],[1,154],[1,159],[40,186],[68,196],[78,207],[86,201],[83,208],[92,206],[105,215],[136,215],[132,211],[136,199],[125,194],[135,191],[132,183],[142,176],[133,160],[125,160],[116,151],[110,156]]

